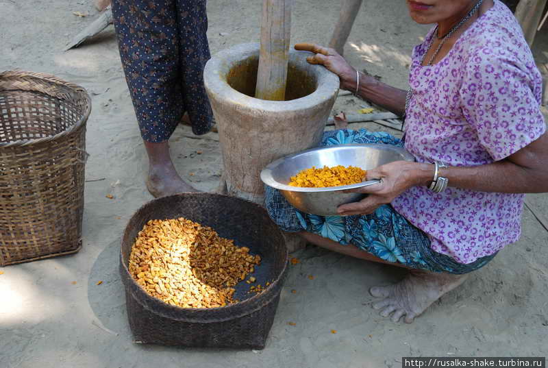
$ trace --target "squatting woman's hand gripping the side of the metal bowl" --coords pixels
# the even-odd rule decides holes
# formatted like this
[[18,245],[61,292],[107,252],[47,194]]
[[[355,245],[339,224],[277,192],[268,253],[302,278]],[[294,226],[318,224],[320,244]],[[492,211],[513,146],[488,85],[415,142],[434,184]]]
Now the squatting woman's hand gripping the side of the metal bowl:
[[367,197],[359,202],[343,204],[337,208],[341,216],[351,214],[371,214],[377,207],[389,204],[411,186],[419,185],[419,175],[416,162],[395,161],[384,164],[376,169],[368,170],[366,180],[382,180],[379,184],[351,189],[348,192],[366,193]]

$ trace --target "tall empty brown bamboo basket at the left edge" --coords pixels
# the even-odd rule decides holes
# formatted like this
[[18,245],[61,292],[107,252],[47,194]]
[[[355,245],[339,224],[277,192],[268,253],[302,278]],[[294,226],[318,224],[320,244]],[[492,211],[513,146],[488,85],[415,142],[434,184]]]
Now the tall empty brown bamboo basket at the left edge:
[[0,73],[0,266],[82,246],[84,88],[53,75]]

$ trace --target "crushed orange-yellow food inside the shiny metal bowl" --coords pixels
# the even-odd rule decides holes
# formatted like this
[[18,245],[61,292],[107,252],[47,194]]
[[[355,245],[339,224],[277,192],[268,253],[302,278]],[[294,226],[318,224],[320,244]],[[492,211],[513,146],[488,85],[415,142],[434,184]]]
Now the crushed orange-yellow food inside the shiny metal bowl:
[[322,169],[304,169],[291,177],[289,186],[301,188],[326,188],[329,186],[343,186],[357,184],[365,180],[366,171],[359,167],[324,166]]

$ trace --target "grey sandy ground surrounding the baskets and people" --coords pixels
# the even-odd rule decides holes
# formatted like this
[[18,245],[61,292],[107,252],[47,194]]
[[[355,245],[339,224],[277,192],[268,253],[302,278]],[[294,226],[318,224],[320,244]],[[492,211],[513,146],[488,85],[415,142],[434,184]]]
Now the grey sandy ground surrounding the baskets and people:
[[[134,344],[118,252],[127,219],[151,199],[143,183],[147,162],[112,27],[94,42],[62,52],[64,44],[94,19],[91,3],[0,0],[0,70],[53,73],[90,92],[86,179],[99,180],[86,183],[84,247],[79,254],[2,269],[0,367],[392,368],[401,364],[402,356],[546,355],[548,232],[527,209],[521,241],[504,249],[412,326],[385,320],[369,306],[367,289],[399,280],[401,271],[310,247],[299,251],[301,263],[290,269],[266,349]],[[213,53],[258,40],[260,3],[210,0]],[[297,1],[292,42],[327,43],[338,3]],[[345,49],[347,58],[385,82],[404,87],[408,55],[426,28],[410,21],[401,0],[364,3]],[[90,16],[79,18],[73,11]],[[547,61],[547,36],[543,32],[536,47],[539,62]],[[360,101],[345,97],[334,110],[354,112],[359,107]],[[171,149],[177,169],[192,184],[203,191],[216,187],[221,169],[216,134],[197,139],[182,127],[175,132]],[[109,193],[114,199],[105,197]],[[547,195],[530,199],[534,210],[548,218]],[[314,280],[307,275],[314,275]],[[99,280],[101,285],[96,284]],[[296,326],[289,326],[289,321]]]

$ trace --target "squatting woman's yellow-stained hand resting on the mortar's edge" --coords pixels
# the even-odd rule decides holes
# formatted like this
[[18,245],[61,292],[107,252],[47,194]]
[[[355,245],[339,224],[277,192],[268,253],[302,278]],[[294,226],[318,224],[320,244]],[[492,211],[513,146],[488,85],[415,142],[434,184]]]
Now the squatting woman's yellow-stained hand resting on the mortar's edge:
[[341,89],[352,92],[356,90],[356,69],[353,69],[343,56],[340,56],[334,49],[321,47],[313,43],[297,43],[295,50],[315,53],[316,55],[306,58],[306,61],[310,64],[321,64],[327,70],[338,75]]

